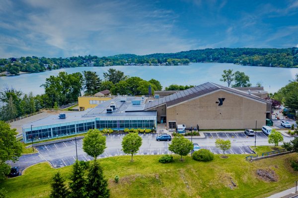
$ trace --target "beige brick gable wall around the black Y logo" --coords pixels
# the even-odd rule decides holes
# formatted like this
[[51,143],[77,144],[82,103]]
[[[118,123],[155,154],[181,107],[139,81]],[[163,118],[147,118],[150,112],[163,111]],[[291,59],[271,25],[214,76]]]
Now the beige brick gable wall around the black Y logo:
[[[218,98],[225,98],[218,106]],[[168,107],[167,121],[185,124],[186,127],[199,125],[200,129],[246,129],[265,125],[267,104],[218,91],[201,98],[173,107]],[[168,123],[167,123],[168,124]]]

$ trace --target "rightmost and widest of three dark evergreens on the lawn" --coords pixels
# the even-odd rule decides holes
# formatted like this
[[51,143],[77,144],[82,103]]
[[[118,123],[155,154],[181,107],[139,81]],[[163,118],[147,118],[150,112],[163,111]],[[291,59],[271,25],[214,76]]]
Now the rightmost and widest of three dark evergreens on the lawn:
[[94,160],[94,163],[89,168],[87,192],[89,198],[110,197],[107,180],[104,179],[102,168],[96,160]]

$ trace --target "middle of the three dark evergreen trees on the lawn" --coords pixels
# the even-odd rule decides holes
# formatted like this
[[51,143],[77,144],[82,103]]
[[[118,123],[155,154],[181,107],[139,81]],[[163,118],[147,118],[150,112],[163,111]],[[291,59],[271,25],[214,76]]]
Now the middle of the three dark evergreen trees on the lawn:
[[70,198],[87,198],[86,179],[84,177],[84,168],[79,164],[78,160],[74,163],[73,173],[70,183]]

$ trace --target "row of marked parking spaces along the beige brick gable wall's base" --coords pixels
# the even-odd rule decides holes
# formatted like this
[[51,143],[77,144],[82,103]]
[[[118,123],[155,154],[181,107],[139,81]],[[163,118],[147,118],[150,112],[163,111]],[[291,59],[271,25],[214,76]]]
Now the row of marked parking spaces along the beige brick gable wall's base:
[[[244,132],[204,132],[206,138],[221,138],[221,139],[234,139],[234,138],[255,138],[255,136],[248,136]],[[257,132],[256,138],[268,138],[263,132]]]

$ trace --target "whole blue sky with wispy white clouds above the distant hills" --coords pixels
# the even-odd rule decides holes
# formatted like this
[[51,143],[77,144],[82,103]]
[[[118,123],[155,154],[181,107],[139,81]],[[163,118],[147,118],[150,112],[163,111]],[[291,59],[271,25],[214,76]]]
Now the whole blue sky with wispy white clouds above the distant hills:
[[0,57],[298,47],[298,0],[0,0]]

